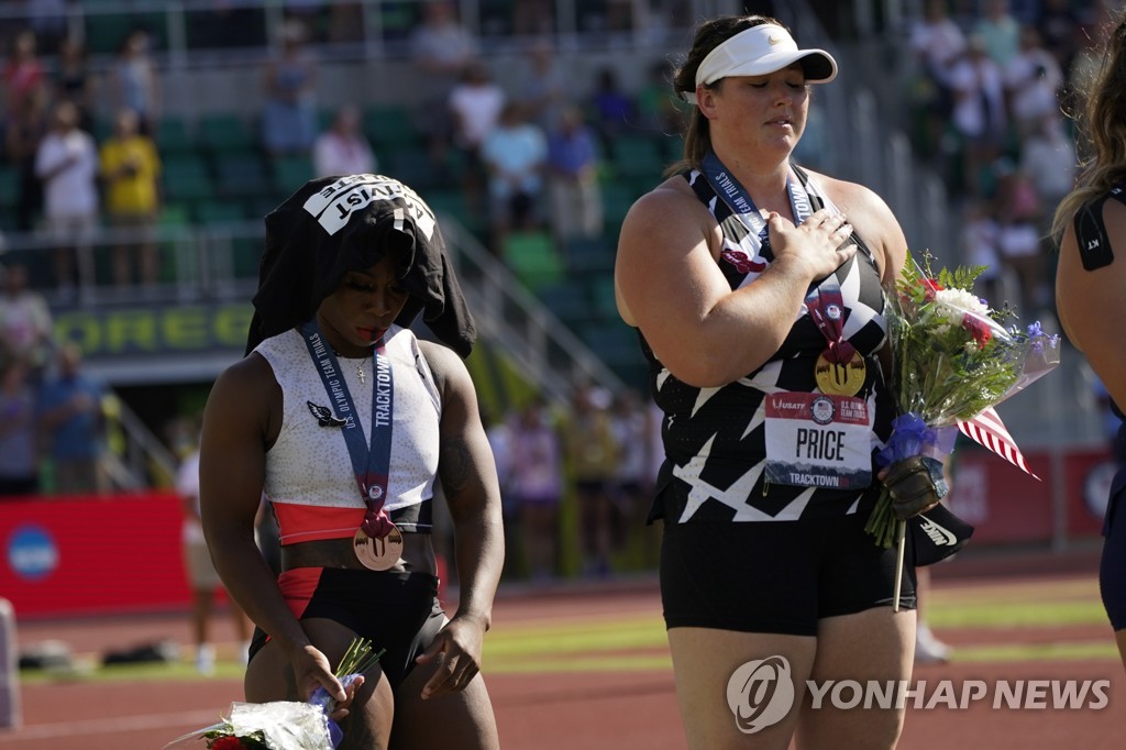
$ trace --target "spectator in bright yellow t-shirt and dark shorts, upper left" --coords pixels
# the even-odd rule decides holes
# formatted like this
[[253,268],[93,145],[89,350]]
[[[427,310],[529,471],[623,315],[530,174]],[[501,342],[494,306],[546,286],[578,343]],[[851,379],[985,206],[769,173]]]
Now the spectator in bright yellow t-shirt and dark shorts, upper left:
[[135,111],[117,113],[114,133],[101,144],[101,178],[109,223],[126,232],[114,244],[114,283],[129,286],[136,267],[138,280],[151,289],[160,266],[153,236],[160,212],[160,157],[140,128]]

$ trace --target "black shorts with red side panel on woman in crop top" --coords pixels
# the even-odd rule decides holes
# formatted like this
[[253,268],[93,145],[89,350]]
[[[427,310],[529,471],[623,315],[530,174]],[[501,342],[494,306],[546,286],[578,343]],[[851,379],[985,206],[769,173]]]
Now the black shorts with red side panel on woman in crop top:
[[[402,685],[446,622],[438,601],[438,579],[429,573],[295,568],[278,578],[278,586],[297,619],[324,617],[372,640],[392,689]],[[254,628],[250,658],[266,645],[267,635]]]

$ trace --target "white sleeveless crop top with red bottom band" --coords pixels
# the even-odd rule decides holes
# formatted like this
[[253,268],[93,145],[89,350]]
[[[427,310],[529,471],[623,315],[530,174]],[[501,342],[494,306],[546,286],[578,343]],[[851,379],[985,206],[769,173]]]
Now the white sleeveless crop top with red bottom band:
[[[322,427],[310,404],[331,407],[324,383],[297,330],[266,339],[254,351],[274,369],[284,409],[277,441],[266,453],[266,497],[274,505],[282,544],[352,536],[367,506],[360,497],[348,447],[339,427]],[[403,532],[429,533],[434,480],[438,471],[441,400],[434,375],[410,329],[387,331],[394,401],[391,471],[384,509]],[[363,361],[366,383],[358,367]],[[374,363],[339,358],[357,421],[370,440]]]

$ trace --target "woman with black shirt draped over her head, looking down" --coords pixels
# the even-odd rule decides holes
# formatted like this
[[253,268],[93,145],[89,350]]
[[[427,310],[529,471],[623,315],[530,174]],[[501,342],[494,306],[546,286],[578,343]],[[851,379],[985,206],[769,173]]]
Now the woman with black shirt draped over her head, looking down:
[[[224,584],[258,625],[248,700],[347,712],[349,748],[495,748],[479,673],[503,562],[500,490],[461,357],[475,331],[434,212],[378,175],[319,178],[266,217],[248,355],[212,390],[203,523]],[[408,328],[423,314],[441,343]],[[459,356],[461,355],[461,356]],[[437,598],[440,480],[459,601]],[[254,546],[265,492],[280,577]],[[346,691],[356,636],[386,652]]]

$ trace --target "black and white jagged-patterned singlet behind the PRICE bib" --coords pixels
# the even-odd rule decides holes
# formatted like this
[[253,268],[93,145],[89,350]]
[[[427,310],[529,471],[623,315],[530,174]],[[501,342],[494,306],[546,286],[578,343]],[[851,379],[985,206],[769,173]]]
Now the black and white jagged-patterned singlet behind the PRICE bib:
[[[811,198],[832,207],[816,186],[797,170]],[[732,289],[751,284],[772,260],[769,243],[758,247],[739,215],[717,196],[699,171],[685,178],[720,222],[724,248],[718,260]],[[815,206],[816,207],[816,206]],[[891,432],[894,407],[881,375],[875,352],[886,340],[884,293],[870,251],[856,234],[860,250],[830,277],[835,279],[844,313],[844,338],[867,363],[866,380],[857,398],[874,412],[874,427],[866,430],[873,452],[883,447]],[[766,409],[768,394],[819,393],[814,365],[825,350],[824,336],[805,306],[794,321],[778,351],[759,369],[720,387],[696,387],[677,380],[640,337],[650,363],[654,400],[664,419],[661,427],[665,459],[658,479],[658,493],[650,519],[667,521],[783,521],[825,518],[865,511],[878,494],[878,483],[850,490],[796,486],[766,481]],[[732,342],[738,346],[738,342]],[[873,467],[873,477],[876,468]]]

